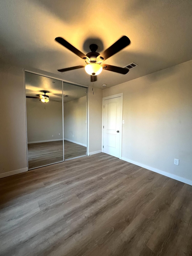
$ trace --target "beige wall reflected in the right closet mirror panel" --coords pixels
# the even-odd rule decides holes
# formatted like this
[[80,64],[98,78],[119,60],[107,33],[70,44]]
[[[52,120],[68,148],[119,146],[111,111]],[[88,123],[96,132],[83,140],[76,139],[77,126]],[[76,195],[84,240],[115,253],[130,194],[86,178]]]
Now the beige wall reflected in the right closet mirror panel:
[[64,103],[64,139],[87,146],[87,96]]

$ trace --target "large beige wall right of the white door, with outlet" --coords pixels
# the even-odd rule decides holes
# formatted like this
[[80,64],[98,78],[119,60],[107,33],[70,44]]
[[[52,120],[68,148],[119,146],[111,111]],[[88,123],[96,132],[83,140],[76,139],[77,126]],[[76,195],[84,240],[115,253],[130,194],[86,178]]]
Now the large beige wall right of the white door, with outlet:
[[123,92],[122,159],[192,180],[191,71],[192,60],[103,91]]

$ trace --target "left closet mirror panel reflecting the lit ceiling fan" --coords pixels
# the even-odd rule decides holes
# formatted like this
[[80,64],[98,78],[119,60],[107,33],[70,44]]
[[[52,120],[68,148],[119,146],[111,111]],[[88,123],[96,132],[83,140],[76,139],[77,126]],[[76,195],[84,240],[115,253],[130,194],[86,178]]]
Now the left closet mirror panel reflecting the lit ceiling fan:
[[25,80],[28,168],[63,161],[62,81],[30,72]]

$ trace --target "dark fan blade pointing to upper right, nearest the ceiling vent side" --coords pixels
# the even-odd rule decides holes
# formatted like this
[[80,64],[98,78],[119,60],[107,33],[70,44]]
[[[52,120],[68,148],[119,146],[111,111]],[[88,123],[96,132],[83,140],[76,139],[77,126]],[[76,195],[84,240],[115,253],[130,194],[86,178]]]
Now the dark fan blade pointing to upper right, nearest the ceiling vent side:
[[117,40],[114,44],[112,44],[109,48],[104,50],[97,59],[102,58],[104,60],[108,59],[109,57],[113,56],[114,54],[121,51],[123,48],[128,46],[131,43],[127,36],[122,36],[119,40]]

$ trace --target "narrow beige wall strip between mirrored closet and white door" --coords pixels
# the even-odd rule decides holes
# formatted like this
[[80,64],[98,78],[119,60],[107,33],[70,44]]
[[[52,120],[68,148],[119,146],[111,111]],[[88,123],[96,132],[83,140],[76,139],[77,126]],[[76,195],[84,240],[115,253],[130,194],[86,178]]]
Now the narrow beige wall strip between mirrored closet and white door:
[[102,152],[102,97],[103,90],[88,88],[89,154]]

